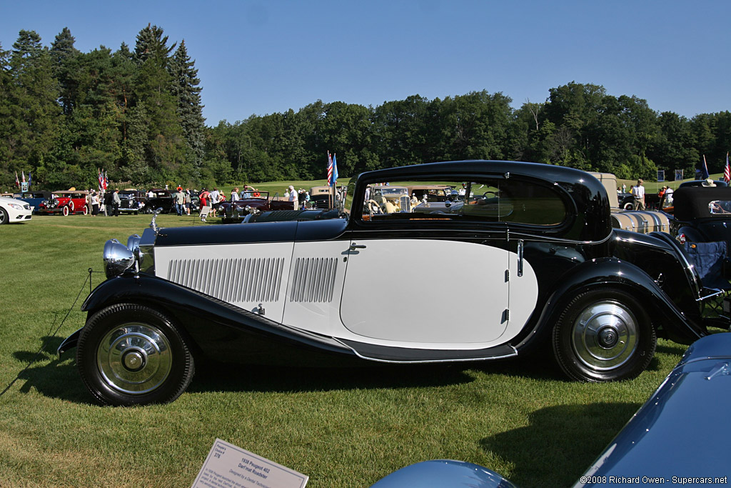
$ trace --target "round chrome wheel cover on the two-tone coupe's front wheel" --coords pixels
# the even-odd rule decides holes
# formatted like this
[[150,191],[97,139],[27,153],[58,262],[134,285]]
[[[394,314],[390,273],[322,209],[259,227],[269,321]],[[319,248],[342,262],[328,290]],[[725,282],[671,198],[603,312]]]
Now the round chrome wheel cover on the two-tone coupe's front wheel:
[[107,385],[126,394],[145,394],[164,383],[173,367],[170,342],[146,323],[125,323],[105,335],[96,365]]

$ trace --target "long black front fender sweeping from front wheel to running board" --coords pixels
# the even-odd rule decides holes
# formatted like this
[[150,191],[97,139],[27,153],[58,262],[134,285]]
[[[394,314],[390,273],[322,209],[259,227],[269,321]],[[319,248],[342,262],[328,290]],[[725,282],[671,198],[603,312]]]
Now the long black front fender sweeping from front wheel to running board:
[[91,316],[118,303],[145,304],[170,316],[199,353],[216,361],[290,366],[364,362],[331,337],[282,326],[190,288],[142,274],[107,279],[91,292],[82,310]]

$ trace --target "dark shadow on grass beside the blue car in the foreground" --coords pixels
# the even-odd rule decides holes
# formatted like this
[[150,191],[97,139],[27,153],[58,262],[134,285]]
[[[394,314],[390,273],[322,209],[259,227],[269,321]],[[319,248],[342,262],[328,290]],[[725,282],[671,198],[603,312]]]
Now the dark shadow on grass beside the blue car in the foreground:
[[639,403],[542,408],[530,414],[528,427],[484,438],[480,447],[515,467],[510,476],[501,474],[518,487],[567,487],[589,468],[638,408]]

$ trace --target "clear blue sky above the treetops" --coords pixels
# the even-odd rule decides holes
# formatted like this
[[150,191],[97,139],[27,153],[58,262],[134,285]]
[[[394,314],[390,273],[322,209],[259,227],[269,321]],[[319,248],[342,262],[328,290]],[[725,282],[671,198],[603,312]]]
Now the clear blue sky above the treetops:
[[207,125],[316,100],[381,105],[487,90],[542,102],[571,81],[691,118],[731,109],[727,0],[1,0],[0,44],[134,49],[140,29],[185,40]]

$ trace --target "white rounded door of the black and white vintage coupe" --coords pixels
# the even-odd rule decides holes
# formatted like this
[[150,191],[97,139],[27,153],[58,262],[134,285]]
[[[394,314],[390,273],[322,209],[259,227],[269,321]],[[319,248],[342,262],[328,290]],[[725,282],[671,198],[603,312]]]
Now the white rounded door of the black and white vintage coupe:
[[[493,342],[507,328],[510,253],[457,241],[357,241],[341,302],[364,337],[439,344]],[[521,324],[522,325],[522,324]]]

